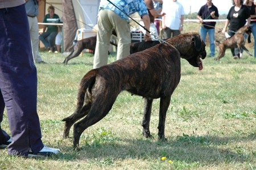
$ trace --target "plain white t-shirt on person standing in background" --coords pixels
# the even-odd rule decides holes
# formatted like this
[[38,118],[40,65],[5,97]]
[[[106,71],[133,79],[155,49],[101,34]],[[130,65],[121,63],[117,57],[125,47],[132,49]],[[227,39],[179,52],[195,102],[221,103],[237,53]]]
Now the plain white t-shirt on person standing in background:
[[166,13],[164,24],[171,30],[180,29],[180,18],[184,15],[184,9],[181,3],[172,0],[163,0],[163,13]]

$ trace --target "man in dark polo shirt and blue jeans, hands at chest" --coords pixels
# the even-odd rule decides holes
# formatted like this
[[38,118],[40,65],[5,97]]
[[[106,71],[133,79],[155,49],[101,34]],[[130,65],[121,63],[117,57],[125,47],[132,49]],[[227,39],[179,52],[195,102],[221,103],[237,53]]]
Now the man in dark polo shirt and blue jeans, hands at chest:
[[200,35],[202,36],[203,41],[209,36],[210,41],[210,55],[209,57],[214,57],[215,55],[215,25],[216,22],[204,22],[203,19],[218,19],[218,9],[213,5],[212,0],[207,0],[207,3],[203,5],[199,12],[197,13],[196,18],[200,20]]

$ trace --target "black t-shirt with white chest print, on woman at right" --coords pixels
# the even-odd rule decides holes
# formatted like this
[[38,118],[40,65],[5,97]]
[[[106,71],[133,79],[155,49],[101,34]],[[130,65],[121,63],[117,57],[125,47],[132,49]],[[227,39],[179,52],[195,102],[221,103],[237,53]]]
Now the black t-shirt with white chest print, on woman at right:
[[237,31],[239,28],[245,26],[246,19],[250,17],[249,9],[247,6],[242,5],[239,11],[234,10],[232,6],[226,18],[230,20],[229,30]]

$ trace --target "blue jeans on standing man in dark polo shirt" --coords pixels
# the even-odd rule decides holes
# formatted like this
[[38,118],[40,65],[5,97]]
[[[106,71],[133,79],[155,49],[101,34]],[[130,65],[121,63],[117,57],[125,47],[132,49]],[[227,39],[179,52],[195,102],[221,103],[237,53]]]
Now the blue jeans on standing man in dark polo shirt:
[[209,36],[209,40],[210,40],[210,56],[214,56],[215,55],[215,28],[205,28],[205,27],[200,27],[200,35],[202,36],[203,41],[205,42],[205,38],[207,36],[207,32],[208,32],[208,36]]

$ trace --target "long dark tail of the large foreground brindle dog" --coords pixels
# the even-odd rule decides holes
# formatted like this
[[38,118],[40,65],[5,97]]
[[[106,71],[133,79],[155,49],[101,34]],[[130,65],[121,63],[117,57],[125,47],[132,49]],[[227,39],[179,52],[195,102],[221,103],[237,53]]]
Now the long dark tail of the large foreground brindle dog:
[[72,115],[70,115],[67,118],[64,118],[62,121],[73,121],[77,118],[84,117],[87,114],[86,113],[85,115],[81,115],[82,114],[81,110],[82,110],[82,107],[84,106],[85,94],[86,92],[91,93],[92,86],[94,85],[96,80],[96,75],[97,75],[97,69],[93,69],[92,71],[89,71],[88,73],[86,73],[84,77],[82,77],[79,91],[77,94],[76,110]]

